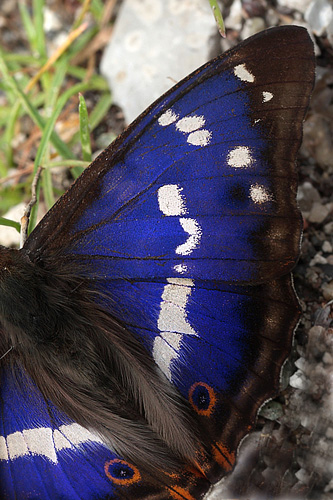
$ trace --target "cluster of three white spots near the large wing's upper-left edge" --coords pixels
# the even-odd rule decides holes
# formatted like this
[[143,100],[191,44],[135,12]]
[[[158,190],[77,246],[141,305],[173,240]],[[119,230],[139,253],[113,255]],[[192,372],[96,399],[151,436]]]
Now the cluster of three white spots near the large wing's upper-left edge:
[[203,128],[206,124],[204,116],[193,115],[179,119],[179,115],[168,109],[158,119],[162,127],[167,127],[176,122],[176,129],[183,134],[188,134],[187,142],[193,146],[207,146],[212,138],[212,133]]

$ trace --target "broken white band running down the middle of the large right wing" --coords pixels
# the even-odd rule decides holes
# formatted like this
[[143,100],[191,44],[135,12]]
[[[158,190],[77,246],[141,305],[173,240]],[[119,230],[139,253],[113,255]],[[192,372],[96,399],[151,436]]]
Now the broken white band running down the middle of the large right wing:
[[[169,117],[171,119],[171,116]],[[191,129],[189,121],[180,120],[180,129]],[[186,128],[187,127],[187,128]],[[158,204],[167,216],[184,216],[188,213],[183,188],[166,184],[158,190]],[[179,223],[189,235],[185,243],[175,248],[177,255],[190,255],[200,244],[202,229],[197,220],[179,217]],[[177,273],[187,270],[185,264],[174,267]],[[187,319],[187,304],[193,291],[194,282],[187,278],[167,278],[164,286],[157,327],[160,335],[154,340],[153,356],[164,374],[171,380],[171,362],[179,355],[183,335],[197,335]]]

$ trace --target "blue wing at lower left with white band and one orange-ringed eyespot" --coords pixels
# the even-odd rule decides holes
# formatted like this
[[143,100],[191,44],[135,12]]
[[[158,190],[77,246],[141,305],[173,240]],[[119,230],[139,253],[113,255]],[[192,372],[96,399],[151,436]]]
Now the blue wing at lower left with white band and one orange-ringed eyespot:
[[1,399],[1,499],[131,500],[159,488],[46,402],[23,371],[14,381],[2,370]]

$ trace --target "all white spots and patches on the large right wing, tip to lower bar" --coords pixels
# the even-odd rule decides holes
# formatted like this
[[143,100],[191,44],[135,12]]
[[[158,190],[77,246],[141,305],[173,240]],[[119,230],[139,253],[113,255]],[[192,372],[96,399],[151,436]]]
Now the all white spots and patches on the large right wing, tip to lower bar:
[[[245,64],[236,66],[234,74],[244,82],[253,83],[255,81],[255,76],[246,68]],[[271,92],[263,92],[263,102],[268,102],[272,98],[273,94]],[[158,123],[162,127],[175,123],[178,131],[188,134],[187,142],[189,144],[206,146],[212,137],[211,132],[203,128],[206,120],[202,115],[179,118],[175,111],[168,109],[160,116]],[[250,147],[237,146],[229,152],[227,163],[230,167],[236,169],[250,168],[255,164],[255,158]],[[272,199],[265,186],[260,184],[251,185],[249,196],[257,204]],[[202,229],[195,219],[184,217],[188,210],[183,188],[174,184],[160,187],[158,190],[158,204],[164,215],[180,217],[179,222],[189,237],[185,243],[175,248],[175,253],[184,256],[190,255],[200,244]],[[180,274],[187,270],[184,264],[178,264],[174,269]],[[171,379],[172,375],[171,362],[179,356],[183,335],[197,336],[187,318],[188,301],[193,289],[193,280],[186,278],[168,278],[163,289],[157,320],[160,335],[154,340],[153,356],[169,379]]]

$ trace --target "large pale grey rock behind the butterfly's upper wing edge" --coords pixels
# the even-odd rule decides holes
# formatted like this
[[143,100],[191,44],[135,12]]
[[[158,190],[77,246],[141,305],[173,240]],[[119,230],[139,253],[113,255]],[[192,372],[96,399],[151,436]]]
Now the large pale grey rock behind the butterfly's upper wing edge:
[[202,0],[126,0],[101,71],[129,123],[211,57],[217,28]]

